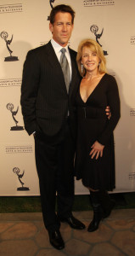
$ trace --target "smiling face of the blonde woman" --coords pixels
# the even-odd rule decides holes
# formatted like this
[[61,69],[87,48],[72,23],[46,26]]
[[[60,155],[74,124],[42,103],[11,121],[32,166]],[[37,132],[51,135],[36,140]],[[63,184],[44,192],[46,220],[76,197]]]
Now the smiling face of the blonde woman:
[[100,60],[98,58],[98,55],[93,52],[89,47],[84,46],[82,48],[82,64],[87,72],[97,72],[99,61]]

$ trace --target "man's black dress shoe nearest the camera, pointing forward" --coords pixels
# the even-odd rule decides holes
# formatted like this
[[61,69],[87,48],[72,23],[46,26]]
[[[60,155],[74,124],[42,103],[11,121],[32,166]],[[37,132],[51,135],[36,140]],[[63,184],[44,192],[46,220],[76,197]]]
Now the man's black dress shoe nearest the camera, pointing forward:
[[48,233],[49,236],[49,241],[51,243],[51,245],[58,249],[58,250],[62,250],[65,247],[65,242],[62,239],[62,236],[59,232],[59,230],[55,230],[53,232],[49,232]]

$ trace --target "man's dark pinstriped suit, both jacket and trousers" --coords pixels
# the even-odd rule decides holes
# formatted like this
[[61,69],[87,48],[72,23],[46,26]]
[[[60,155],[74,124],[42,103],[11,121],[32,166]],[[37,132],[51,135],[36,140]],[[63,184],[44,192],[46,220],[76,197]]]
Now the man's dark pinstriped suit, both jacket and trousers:
[[[37,172],[42,213],[48,230],[59,228],[54,212],[56,191],[58,214],[66,218],[71,212],[74,195],[74,101],[80,76],[76,66],[76,52],[69,50],[72,68],[69,95],[51,42],[28,52],[21,87],[25,130],[29,135],[37,131]],[[58,169],[60,172],[56,174]]]

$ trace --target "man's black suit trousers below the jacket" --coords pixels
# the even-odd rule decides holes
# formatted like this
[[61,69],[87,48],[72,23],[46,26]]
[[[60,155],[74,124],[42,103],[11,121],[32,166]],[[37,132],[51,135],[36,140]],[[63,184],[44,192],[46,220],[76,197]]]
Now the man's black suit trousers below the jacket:
[[43,221],[48,231],[59,230],[58,216],[68,218],[74,200],[75,142],[68,120],[57,136],[36,132],[35,154]]

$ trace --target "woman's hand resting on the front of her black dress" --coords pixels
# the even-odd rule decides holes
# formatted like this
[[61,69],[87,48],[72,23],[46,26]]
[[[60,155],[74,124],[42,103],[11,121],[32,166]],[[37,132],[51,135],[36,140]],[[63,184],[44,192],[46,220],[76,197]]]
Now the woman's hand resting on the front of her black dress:
[[95,143],[93,143],[93,146],[91,148],[93,148],[93,149],[91,150],[89,155],[91,155],[92,159],[94,158],[94,156],[96,156],[96,160],[98,159],[99,155],[100,155],[100,157],[103,156],[104,145],[102,145],[96,141]]

